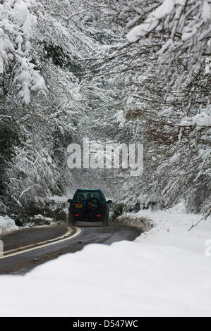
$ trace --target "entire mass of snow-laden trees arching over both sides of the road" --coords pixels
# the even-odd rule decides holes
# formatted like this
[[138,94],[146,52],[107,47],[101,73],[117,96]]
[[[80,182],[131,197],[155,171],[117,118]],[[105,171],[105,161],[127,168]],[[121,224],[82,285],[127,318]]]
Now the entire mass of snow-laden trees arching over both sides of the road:
[[[5,0],[0,13],[2,210],[91,183],[130,208],[207,210],[210,0]],[[70,171],[66,147],[84,137],[144,142],[143,176]]]

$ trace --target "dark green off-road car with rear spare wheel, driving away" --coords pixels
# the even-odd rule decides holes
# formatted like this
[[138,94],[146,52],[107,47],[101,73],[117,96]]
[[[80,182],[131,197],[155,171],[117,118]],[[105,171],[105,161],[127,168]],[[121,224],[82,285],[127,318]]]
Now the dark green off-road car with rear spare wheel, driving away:
[[76,222],[101,221],[104,226],[109,222],[109,204],[101,189],[77,189],[73,199],[68,199],[68,224]]

